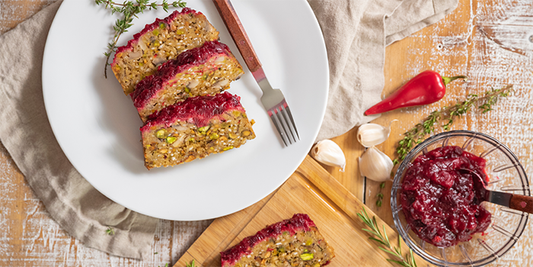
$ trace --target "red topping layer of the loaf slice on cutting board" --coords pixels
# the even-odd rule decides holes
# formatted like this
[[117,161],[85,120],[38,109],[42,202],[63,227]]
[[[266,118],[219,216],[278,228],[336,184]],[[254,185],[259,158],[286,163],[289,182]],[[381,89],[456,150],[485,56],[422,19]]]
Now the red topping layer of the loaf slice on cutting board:
[[253,236],[244,238],[239,244],[234,247],[220,252],[221,265],[234,264],[242,256],[250,254],[252,248],[259,242],[268,239],[276,238],[283,232],[289,232],[293,235],[297,231],[309,231],[311,227],[315,227],[315,223],[309,218],[307,214],[297,213],[292,218],[272,224],[265,229],[257,232]]

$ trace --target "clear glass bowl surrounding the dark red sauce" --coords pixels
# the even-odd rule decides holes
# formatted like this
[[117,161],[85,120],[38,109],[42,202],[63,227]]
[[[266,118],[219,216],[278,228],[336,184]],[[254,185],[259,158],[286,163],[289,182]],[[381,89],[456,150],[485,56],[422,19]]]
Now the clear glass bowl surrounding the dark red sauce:
[[484,233],[477,233],[468,242],[451,247],[436,247],[420,239],[410,230],[400,204],[401,184],[411,162],[441,146],[459,146],[465,151],[487,161],[485,168],[490,182],[487,188],[514,194],[531,195],[524,168],[505,145],[483,133],[473,131],[449,131],[434,135],[417,145],[400,164],[394,176],[391,193],[392,216],[396,229],[405,243],[420,257],[439,266],[483,266],[502,257],[518,241],[524,231],[528,214],[482,202],[481,206],[492,214],[490,226]]

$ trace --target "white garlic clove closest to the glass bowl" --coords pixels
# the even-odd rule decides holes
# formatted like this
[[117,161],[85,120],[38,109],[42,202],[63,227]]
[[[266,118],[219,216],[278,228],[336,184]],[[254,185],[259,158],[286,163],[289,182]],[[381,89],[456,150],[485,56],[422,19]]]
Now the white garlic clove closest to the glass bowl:
[[359,170],[361,171],[361,176],[376,182],[390,180],[393,166],[389,156],[375,147],[369,147],[363,155],[359,157]]

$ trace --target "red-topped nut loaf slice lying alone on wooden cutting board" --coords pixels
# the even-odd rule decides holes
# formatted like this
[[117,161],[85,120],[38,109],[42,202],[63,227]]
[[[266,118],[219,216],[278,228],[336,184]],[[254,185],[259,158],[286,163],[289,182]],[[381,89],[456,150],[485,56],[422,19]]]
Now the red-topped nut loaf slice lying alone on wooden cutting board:
[[220,253],[222,267],[320,267],[335,257],[307,214],[272,224]]

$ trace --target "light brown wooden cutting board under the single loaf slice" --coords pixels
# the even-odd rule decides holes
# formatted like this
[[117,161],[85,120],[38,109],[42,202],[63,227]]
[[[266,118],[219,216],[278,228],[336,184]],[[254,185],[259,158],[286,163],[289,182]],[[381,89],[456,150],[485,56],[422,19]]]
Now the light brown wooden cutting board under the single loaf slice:
[[[335,266],[393,266],[389,254],[378,249],[363,231],[365,224],[357,217],[365,205],[344,188],[314,159],[307,156],[291,177],[276,191],[258,203],[237,213],[221,217],[205,230],[174,266],[186,266],[193,259],[196,266],[220,266],[220,252],[254,235],[265,226],[307,213],[326,241],[335,249]],[[374,216],[365,208],[369,216]],[[385,226],[392,244],[398,244],[398,234]],[[402,251],[407,246],[402,242]],[[397,260],[397,259],[395,259]],[[423,262],[416,258],[417,262]]]

